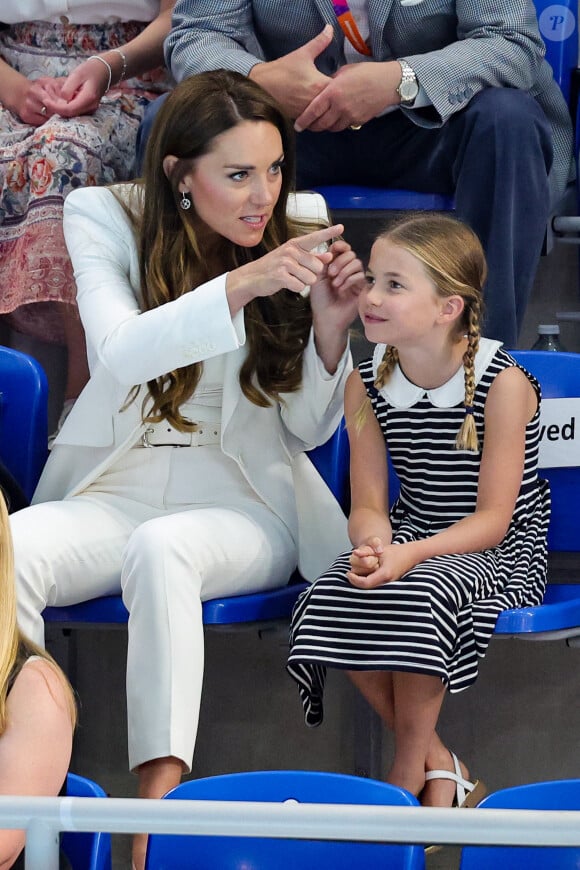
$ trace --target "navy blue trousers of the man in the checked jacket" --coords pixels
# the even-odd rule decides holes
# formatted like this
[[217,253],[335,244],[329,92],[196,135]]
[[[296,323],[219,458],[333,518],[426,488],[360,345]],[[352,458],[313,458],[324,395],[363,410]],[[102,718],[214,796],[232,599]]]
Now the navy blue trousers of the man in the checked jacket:
[[[141,143],[157,104],[146,111]],[[357,131],[296,139],[298,190],[361,184],[454,195],[487,256],[483,333],[516,346],[550,214],[552,135],[533,97],[486,88],[442,127],[391,112]]]

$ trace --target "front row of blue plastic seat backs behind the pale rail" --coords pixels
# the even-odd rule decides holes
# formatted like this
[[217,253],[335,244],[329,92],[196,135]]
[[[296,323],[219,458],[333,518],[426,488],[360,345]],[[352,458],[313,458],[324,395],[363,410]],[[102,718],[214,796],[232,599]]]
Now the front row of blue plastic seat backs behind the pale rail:
[[[91,780],[69,774],[67,795],[106,797]],[[413,795],[396,786],[345,774],[315,771],[254,771],[181,783],[167,800],[298,802],[417,807]],[[580,812],[580,780],[532,783],[494,792],[478,809]],[[477,812],[478,810],[472,810]],[[426,810],[425,812],[429,812]],[[264,831],[264,834],[267,834]],[[110,870],[108,833],[65,832],[62,850],[72,870]],[[572,870],[578,847],[464,847],[460,870]],[[424,870],[423,846],[391,843],[152,834],[146,870]]]

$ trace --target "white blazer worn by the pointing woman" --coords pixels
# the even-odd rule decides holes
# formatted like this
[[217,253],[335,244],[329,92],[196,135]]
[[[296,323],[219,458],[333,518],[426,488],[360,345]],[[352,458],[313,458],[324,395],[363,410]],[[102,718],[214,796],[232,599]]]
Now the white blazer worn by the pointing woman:
[[[118,190],[138,196],[137,187]],[[328,222],[318,194],[297,194],[289,211]],[[55,441],[33,501],[82,492],[139,441],[146,428],[141,418],[146,387],[127,406],[133,386],[224,354],[222,450],[289,528],[298,544],[303,575],[317,577],[349,541],[346,518],[304,451],[324,443],[340,421],[345,380],[352,368],[350,353],[329,375],[311,334],[302,388],[284,396],[280,404],[259,408],[239,386],[246,334],[243,311],[230,316],[226,275],[142,312],[135,236],[112,191],[73,191],[64,205],[64,233],[91,378]]]

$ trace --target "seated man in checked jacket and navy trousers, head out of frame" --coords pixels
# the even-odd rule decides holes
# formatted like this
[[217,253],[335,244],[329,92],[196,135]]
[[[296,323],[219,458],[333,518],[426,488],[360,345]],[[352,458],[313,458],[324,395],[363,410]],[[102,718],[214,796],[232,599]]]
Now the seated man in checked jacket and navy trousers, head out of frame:
[[533,2],[351,0],[350,12],[364,53],[332,0],[177,0],[167,62],[178,80],[225,67],[277,97],[298,131],[298,189],[454,194],[488,258],[485,334],[514,347],[572,168]]

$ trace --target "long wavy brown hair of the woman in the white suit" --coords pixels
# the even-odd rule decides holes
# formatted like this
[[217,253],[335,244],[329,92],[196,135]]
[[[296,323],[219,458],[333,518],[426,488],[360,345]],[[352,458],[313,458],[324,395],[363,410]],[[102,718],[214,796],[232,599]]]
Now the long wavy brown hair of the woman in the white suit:
[[[209,231],[193,202],[186,211],[180,208],[179,185],[195,160],[212,150],[218,136],[244,121],[272,124],[284,151],[280,196],[261,243],[253,248]],[[169,155],[177,161],[168,178],[163,161]],[[294,171],[292,124],[259,85],[228,70],[200,73],[181,82],[155,119],[145,158],[142,214],[131,215],[138,235],[143,310],[178,299],[289,238],[317,228],[306,228],[286,216]],[[284,291],[256,298],[245,306],[244,321],[248,354],[240,370],[240,387],[255,405],[267,407],[281,393],[300,388],[302,357],[312,325],[310,302]],[[180,407],[192,396],[202,369],[199,362],[149,381],[145,421],[167,420],[182,431],[194,430],[196,424],[183,417]],[[137,391],[135,387],[129,401]]]

